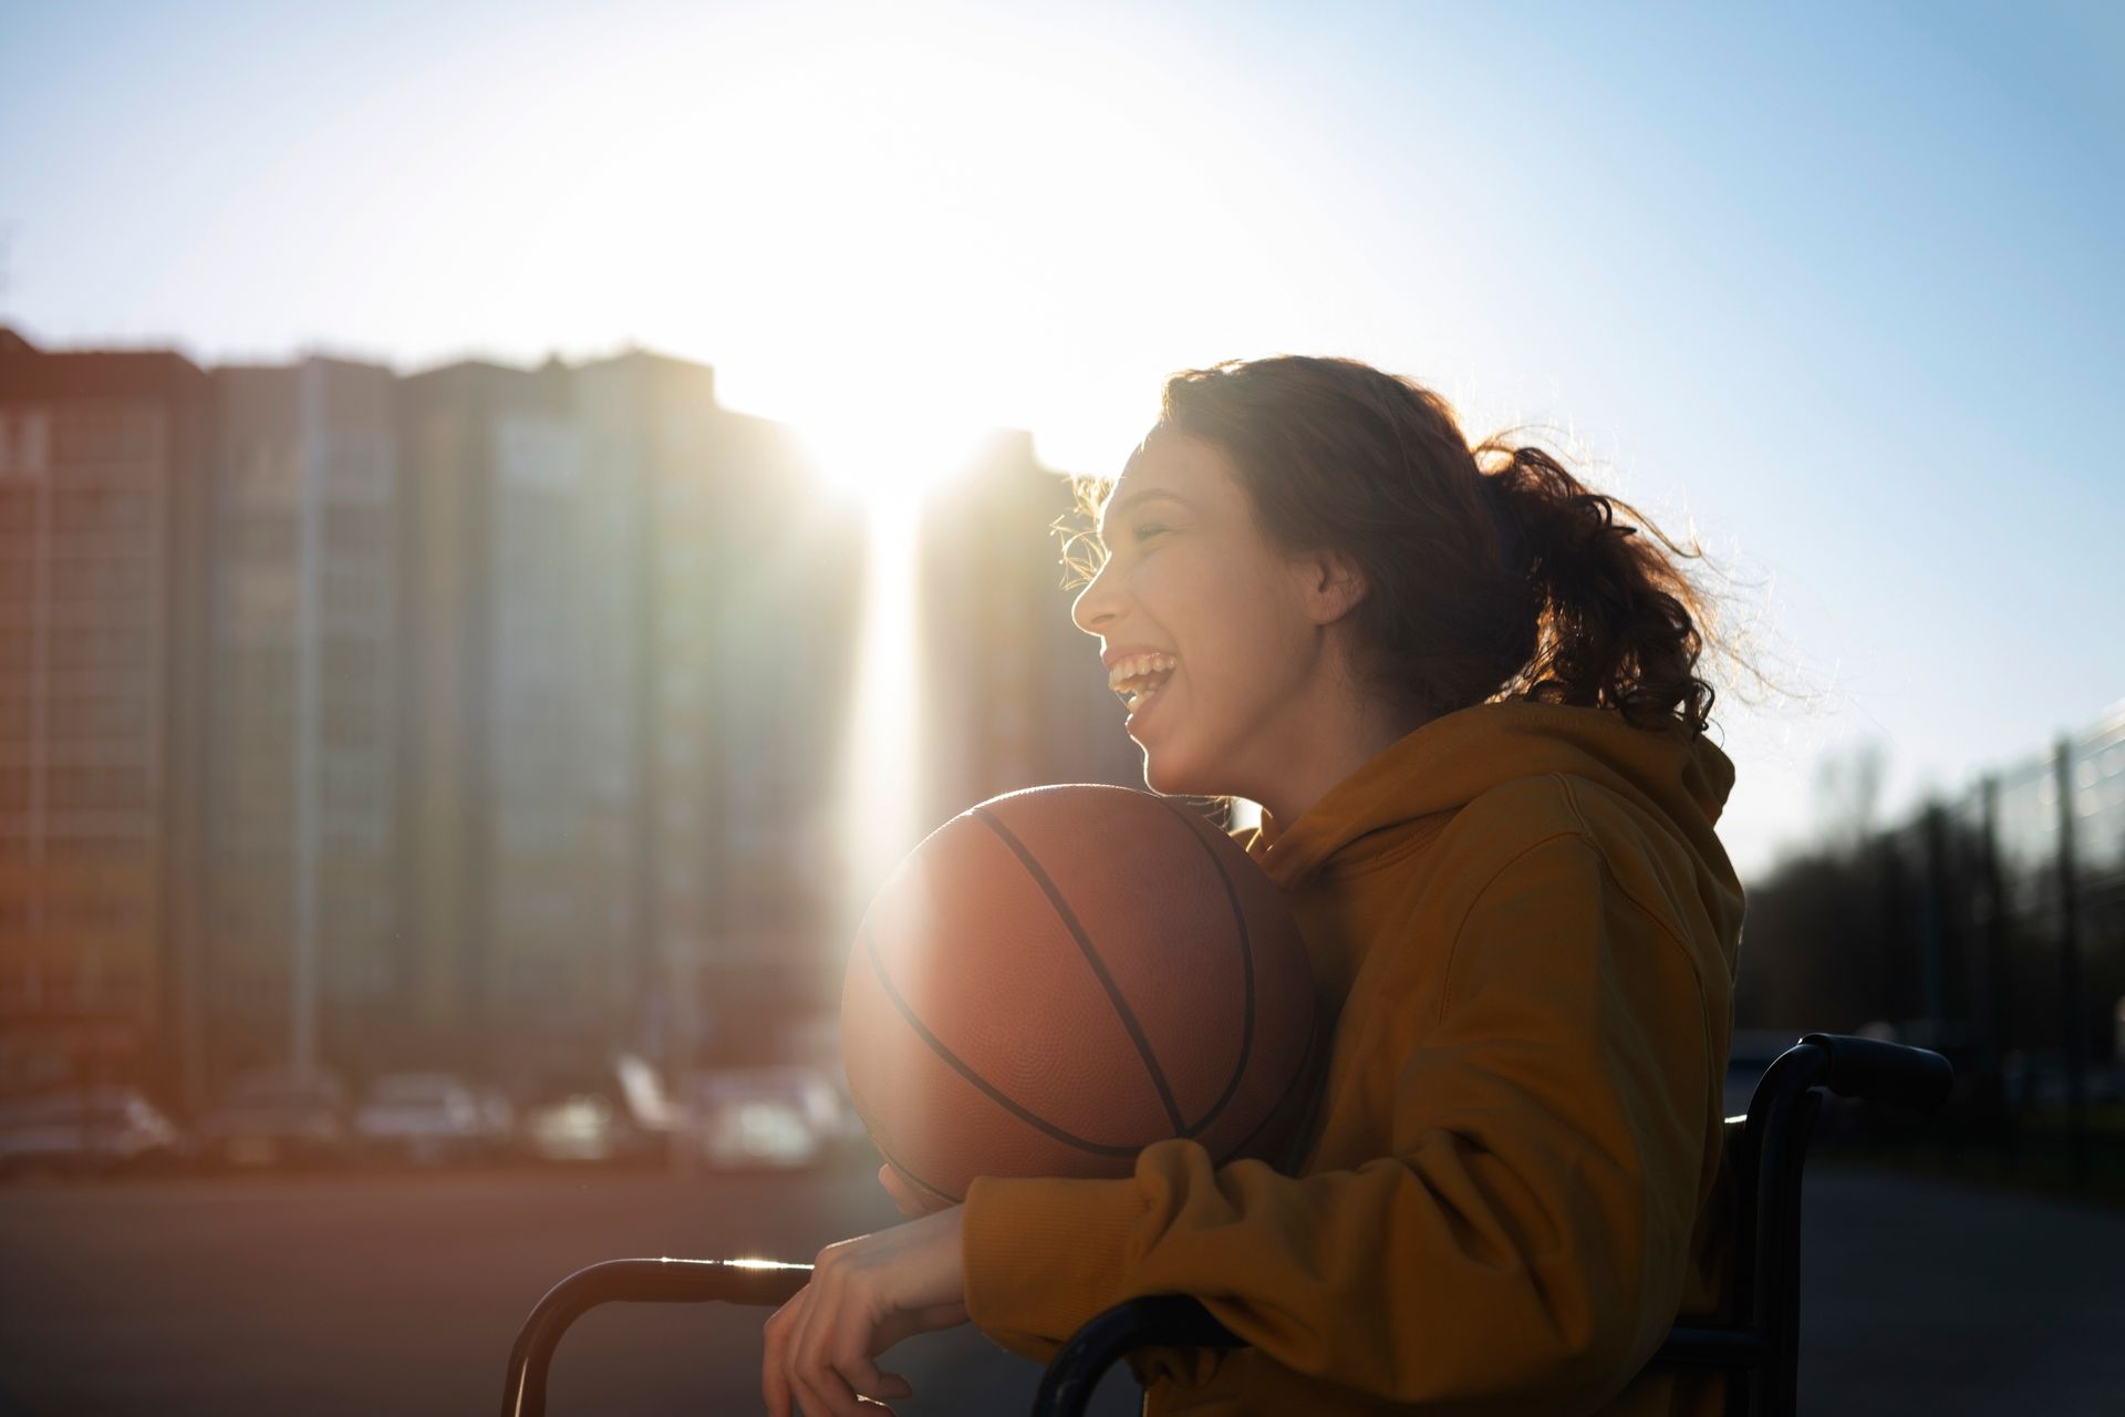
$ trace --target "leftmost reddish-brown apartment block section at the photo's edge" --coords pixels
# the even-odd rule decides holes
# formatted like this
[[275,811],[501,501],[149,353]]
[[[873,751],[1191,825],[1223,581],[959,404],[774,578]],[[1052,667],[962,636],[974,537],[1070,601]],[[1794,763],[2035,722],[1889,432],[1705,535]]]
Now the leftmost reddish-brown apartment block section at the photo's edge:
[[0,1088],[196,1090],[208,378],[0,329]]

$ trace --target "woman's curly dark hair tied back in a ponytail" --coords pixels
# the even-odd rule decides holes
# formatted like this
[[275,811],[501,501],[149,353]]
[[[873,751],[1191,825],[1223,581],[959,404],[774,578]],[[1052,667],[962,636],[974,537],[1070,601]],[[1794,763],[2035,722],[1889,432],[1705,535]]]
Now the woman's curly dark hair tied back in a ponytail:
[[[1173,374],[1158,429],[1232,461],[1273,546],[1358,565],[1368,678],[1420,716],[1530,699],[1692,735],[1711,722],[1711,603],[1679,565],[1702,550],[1543,448],[1470,446],[1415,380],[1356,359],[1232,359]],[[1080,480],[1080,510],[1107,486]],[[1075,542],[1065,561],[1090,569]]]

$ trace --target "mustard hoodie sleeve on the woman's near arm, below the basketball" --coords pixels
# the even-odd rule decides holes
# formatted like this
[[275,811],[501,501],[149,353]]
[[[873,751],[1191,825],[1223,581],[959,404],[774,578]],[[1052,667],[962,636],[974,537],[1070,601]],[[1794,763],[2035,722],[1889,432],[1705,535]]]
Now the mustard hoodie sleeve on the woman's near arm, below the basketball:
[[[1294,1179],[1175,1139],[1128,1179],[984,1177],[969,1317],[1046,1362],[1101,1309],[1182,1292],[1277,1364],[1390,1402],[1621,1389],[1674,1321],[1711,1183],[1696,956],[1560,835],[1481,888],[1443,981],[1439,958],[1411,941],[1381,977],[1400,1003],[1360,1047],[1400,1060],[1371,1073],[1386,1096],[1328,1103],[1379,1126],[1377,1160]],[[1220,1362],[1148,1366],[1188,1383]]]

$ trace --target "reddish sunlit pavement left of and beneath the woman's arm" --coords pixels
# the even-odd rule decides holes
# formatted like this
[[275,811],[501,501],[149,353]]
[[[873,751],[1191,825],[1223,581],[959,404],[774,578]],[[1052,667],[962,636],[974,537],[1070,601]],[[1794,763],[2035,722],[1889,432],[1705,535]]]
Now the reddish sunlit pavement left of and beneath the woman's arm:
[[[0,1417],[438,1417],[499,1404],[544,1290],[616,1256],[774,1256],[899,1219],[869,1171],[380,1175],[0,1190]],[[763,1309],[606,1307],[548,1411],[759,1413]],[[1037,1370],[973,1330],[895,1349],[907,1417],[1024,1411]],[[1096,1411],[1135,1411],[1118,1375]]]

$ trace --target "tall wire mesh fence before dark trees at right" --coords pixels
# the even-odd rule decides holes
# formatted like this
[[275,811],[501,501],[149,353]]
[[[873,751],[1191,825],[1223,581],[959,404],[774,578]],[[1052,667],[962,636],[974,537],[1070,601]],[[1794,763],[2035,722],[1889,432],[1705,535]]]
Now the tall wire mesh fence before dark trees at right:
[[2125,1079],[2125,705],[1751,888],[1745,1026],[1889,1022],[1964,1054],[2012,1141],[2063,1113],[2085,1173],[2091,1107]]

